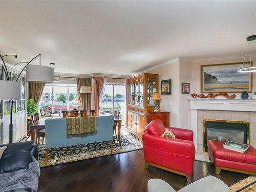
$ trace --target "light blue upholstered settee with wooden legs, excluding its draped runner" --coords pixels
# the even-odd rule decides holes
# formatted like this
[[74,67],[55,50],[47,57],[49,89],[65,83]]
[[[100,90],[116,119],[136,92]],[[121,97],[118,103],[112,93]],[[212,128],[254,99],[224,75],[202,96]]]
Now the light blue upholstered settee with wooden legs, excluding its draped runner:
[[45,163],[47,164],[48,162],[48,148],[110,140],[111,153],[112,153],[113,152],[113,135],[112,134],[113,134],[114,116],[98,116],[96,117],[96,123],[97,123],[97,134],[88,135],[86,137],[67,138],[67,118],[47,119],[45,121],[45,129],[46,129]]

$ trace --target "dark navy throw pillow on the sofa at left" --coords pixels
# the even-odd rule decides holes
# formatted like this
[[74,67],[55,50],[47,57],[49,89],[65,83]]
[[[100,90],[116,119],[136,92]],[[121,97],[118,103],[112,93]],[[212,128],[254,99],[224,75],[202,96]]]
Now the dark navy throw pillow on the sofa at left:
[[0,147],[8,146],[0,160],[0,174],[28,169],[32,143],[32,141],[27,141],[0,145]]

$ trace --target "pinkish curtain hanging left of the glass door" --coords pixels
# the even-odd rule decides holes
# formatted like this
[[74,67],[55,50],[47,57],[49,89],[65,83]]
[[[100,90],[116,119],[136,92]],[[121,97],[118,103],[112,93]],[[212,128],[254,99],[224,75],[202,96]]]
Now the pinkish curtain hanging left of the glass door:
[[93,95],[94,95],[94,110],[95,110],[95,115],[99,115],[99,103],[100,103],[100,94],[103,90],[104,86],[104,78],[103,77],[95,77],[94,79],[94,90],[93,90]]

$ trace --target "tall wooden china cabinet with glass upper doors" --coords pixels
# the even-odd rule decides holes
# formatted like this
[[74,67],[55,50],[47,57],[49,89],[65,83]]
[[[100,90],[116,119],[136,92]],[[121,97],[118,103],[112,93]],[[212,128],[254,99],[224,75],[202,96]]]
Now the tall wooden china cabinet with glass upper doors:
[[158,91],[158,75],[144,73],[129,79],[129,104],[127,106],[127,129],[142,139],[145,128],[145,112],[154,111],[153,93]]

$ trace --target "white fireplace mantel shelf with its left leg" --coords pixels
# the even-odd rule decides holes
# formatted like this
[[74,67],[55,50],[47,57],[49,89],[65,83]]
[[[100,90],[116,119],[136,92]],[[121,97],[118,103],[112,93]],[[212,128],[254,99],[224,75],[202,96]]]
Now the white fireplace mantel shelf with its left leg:
[[256,112],[256,99],[189,98],[188,100],[190,101],[190,129],[194,132],[196,151],[198,110]]

